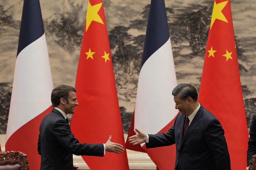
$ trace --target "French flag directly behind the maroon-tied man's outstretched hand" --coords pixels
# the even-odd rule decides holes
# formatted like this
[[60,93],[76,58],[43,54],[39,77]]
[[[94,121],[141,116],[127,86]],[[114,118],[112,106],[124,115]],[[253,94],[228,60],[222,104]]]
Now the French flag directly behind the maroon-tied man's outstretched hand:
[[[172,96],[177,79],[164,0],[152,0],[138,80],[137,97],[128,137],[135,128],[146,134],[166,133],[178,111]],[[156,166],[170,169],[175,164],[175,145],[146,149],[145,143],[126,148],[147,152]]]

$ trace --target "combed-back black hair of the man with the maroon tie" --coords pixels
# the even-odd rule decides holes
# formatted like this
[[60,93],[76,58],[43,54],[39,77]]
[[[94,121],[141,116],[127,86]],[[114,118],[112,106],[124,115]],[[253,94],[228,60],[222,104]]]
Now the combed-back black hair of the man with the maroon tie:
[[179,96],[181,100],[191,97],[194,101],[198,99],[196,88],[191,84],[179,84],[172,91],[173,96]]

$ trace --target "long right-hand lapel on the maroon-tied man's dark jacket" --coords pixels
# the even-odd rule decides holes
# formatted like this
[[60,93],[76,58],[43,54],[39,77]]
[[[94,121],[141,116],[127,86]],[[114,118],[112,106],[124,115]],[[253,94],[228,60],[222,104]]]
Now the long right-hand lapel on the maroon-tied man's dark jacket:
[[[187,132],[184,136],[184,138],[182,139],[182,143],[181,146],[183,145],[183,143],[187,140],[187,138],[189,137],[190,133],[196,128],[196,126],[199,125],[199,123],[201,122],[201,117],[203,116],[203,111],[204,111],[204,107],[201,105],[199,110],[197,111],[195,117],[193,118],[192,122],[189,125],[189,128],[187,129]],[[184,129],[184,127],[183,127]]]

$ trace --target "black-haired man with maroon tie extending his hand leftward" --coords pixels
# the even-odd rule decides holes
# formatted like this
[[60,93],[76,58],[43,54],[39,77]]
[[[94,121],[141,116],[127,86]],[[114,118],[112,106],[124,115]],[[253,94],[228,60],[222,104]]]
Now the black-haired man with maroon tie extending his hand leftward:
[[[137,145],[145,142],[146,148],[175,143],[176,170],[230,170],[224,130],[218,119],[198,103],[194,86],[179,84],[173,89],[172,95],[175,108],[180,111],[172,128],[167,133],[155,135],[147,135],[136,129],[138,134],[129,137],[130,143]],[[185,133],[184,129],[187,129]]]

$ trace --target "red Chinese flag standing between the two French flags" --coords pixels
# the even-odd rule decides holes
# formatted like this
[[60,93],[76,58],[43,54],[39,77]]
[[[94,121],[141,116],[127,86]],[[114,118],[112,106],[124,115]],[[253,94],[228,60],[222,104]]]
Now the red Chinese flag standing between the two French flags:
[[[112,142],[125,148],[102,0],[88,3],[75,88],[79,106],[71,121],[74,136],[81,143],[106,143],[111,135]],[[129,169],[126,150],[82,157],[91,169]]]

